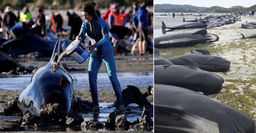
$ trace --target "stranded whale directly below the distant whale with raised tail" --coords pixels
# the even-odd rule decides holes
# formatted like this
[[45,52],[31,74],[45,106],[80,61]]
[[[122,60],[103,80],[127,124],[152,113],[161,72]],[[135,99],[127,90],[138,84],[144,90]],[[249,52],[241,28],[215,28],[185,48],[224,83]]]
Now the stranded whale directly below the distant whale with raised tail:
[[157,37],[154,39],[155,48],[194,46],[197,44],[209,44],[219,40],[219,36],[207,33],[202,29],[194,33],[179,33]]

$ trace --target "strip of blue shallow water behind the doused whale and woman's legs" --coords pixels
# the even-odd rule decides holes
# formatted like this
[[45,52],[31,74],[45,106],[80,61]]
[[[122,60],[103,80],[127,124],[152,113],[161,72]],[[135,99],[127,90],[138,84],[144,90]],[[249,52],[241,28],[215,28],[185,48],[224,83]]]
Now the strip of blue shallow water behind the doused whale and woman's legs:
[[[74,89],[90,89],[88,73],[76,73],[72,75],[77,80],[73,85]],[[0,78],[0,89],[23,90],[29,85],[31,77],[32,74]],[[153,85],[153,72],[118,72],[117,78],[122,89],[126,88],[127,85],[134,85],[138,88],[147,88],[148,85]],[[98,73],[97,87],[98,89],[113,88],[106,72]]]

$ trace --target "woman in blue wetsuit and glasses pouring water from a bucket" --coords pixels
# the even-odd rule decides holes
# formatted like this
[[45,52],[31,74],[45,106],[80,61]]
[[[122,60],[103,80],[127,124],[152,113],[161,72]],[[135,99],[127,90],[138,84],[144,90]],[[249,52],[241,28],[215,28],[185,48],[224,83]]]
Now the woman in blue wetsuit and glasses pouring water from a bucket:
[[87,33],[92,43],[92,45],[86,47],[90,48],[89,52],[91,53],[88,74],[90,90],[94,103],[92,110],[99,110],[96,80],[99,67],[101,66],[102,61],[104,61],[108,76],[117,97],[117,107],[115,110],[123,111],[125,110],[125,107],[122,103],[121,86],[117,79],[117,69],[113,53],[113,46],[109,40],[108,23],[104,19],[96,16],[94,6],[90,2],[82,6],[81,13],[85,21],[83,22],[80,33],[78,36],[76,36],[76,39],[82,41],[85,38],[85,33]]

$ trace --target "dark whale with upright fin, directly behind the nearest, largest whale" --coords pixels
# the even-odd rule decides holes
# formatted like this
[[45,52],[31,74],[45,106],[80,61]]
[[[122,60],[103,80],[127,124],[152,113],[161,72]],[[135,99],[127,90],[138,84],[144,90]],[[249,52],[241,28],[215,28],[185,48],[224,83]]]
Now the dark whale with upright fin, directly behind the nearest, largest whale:
[[195,60],[181,58],[188,66],[155,65],[154,83],[175,85],[203,92],[205,95],[216,94],[222,89],[224,79],[218,75],[198,68]]

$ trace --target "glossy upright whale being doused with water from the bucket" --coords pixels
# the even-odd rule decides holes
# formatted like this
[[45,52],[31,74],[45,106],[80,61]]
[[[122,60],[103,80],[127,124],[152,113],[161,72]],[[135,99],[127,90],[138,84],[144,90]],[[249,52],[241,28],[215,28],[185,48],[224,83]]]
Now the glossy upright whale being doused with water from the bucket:
[[21,92],[17,105],[23,115],[39,115],[47,104],[62,106],[62,113],[75,111],[77,98],[73,89],[73,78],[61,66],[56,64],[60,52],[60,40],[57,40],[50,62],[32,75],[31,81]]

